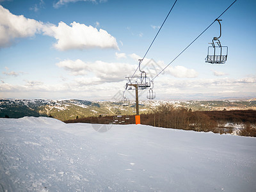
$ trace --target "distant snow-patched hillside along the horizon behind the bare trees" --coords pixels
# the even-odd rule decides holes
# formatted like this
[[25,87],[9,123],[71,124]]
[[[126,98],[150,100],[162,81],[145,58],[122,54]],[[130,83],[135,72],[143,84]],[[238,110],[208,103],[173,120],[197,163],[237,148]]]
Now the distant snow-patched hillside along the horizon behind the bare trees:
[[[256,100],[212,100],[212,101],[140,101],[140,113],[152,113],[152,108],[161,104],[172,104],[175,107],[191,108],[193,111],[220,111],[253,109]],[[52,116],[59,120],[72,120],[87,116],[99,115],[133,115],[135,102],[95,101],[88,100],[42,100],[42,99],[0,99],[0,117],[20,118],[23,116]]]

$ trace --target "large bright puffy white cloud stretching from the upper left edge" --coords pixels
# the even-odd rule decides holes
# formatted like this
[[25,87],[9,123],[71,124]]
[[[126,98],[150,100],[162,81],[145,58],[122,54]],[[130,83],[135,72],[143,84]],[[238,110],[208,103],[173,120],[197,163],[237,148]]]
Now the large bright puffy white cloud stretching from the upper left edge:
[[0,47],[8,47],[16,38],[34,36],[36,33],[53,36],[57,43],[54,47],[60,51],[70,49],[118,49],[116,38],[104,29],[93,28],[85,24],[72,22],[68,26],[59,22],[58,26],[44,24],[23,15],[13,15],[0,5]]

